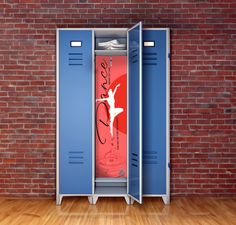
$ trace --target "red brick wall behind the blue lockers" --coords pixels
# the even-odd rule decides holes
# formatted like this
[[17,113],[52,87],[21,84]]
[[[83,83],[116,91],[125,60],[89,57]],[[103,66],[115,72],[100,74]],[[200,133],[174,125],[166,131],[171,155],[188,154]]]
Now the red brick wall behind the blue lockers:
[[171,28],[171,193],[236,196],[235,0],[1,1],[0,195],[55,194],[55,29],[140,20]]

